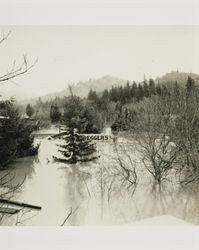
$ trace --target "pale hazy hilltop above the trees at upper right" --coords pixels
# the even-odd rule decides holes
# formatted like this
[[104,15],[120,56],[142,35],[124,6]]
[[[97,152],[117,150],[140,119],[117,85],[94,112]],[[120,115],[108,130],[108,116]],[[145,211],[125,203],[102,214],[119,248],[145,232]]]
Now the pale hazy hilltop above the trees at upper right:
[[158,77],[155,79],[156,83],[174,83],[178,82],[180,85],[185,85],[188,77],[192,77],[195,80],[195,83],[199,85],[199,75],[194,73],[184,73],[178,71],[172,71],[163,75],[162,77]]

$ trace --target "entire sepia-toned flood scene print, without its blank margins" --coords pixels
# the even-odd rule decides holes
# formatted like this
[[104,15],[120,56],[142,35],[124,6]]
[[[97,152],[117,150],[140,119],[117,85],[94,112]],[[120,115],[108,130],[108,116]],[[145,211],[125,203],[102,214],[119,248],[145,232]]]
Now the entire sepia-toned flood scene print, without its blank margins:
[[199,224],[199,26],[0,26],[0,225]]

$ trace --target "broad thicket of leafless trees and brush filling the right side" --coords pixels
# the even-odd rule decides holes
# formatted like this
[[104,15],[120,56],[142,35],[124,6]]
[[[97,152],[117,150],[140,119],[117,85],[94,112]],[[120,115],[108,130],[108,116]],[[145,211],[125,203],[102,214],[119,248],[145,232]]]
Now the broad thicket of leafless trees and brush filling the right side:
[[[183,185],[199,181],[199,88],[192,78],[185,86],[163,86],[161,94],[130,106],[136,112],[129,127],[139,142],[143,163],[160,185],[177,170]],[[132,126],[131,126],[132,124]]]

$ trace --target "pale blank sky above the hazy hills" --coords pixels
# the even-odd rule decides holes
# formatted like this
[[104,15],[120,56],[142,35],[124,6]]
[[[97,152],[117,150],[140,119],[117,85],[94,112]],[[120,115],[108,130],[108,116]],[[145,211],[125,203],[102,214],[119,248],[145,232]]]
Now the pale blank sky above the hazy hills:
[[[68,83],[112,75],[156,78],[171,70],[199,73],[199,26],[1,26],[0,75],[27,54],[37,65],[10,82],[16,91],[43,95]],[[0,87],[1,90],[2,87]]]

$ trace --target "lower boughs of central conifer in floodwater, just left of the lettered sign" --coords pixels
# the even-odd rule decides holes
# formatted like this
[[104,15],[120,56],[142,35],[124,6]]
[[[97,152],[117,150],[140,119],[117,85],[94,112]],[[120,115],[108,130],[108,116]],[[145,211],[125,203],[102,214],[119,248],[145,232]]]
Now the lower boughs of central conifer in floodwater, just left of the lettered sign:
[[95,144],[80,135],[77,129],[68,129],[64,134],[64,144],[58,145],[61,148],[58,151],[63,155],[63,158],[53,156],[54,160],[75,164],[98,158],[94,155],[96,152]]

